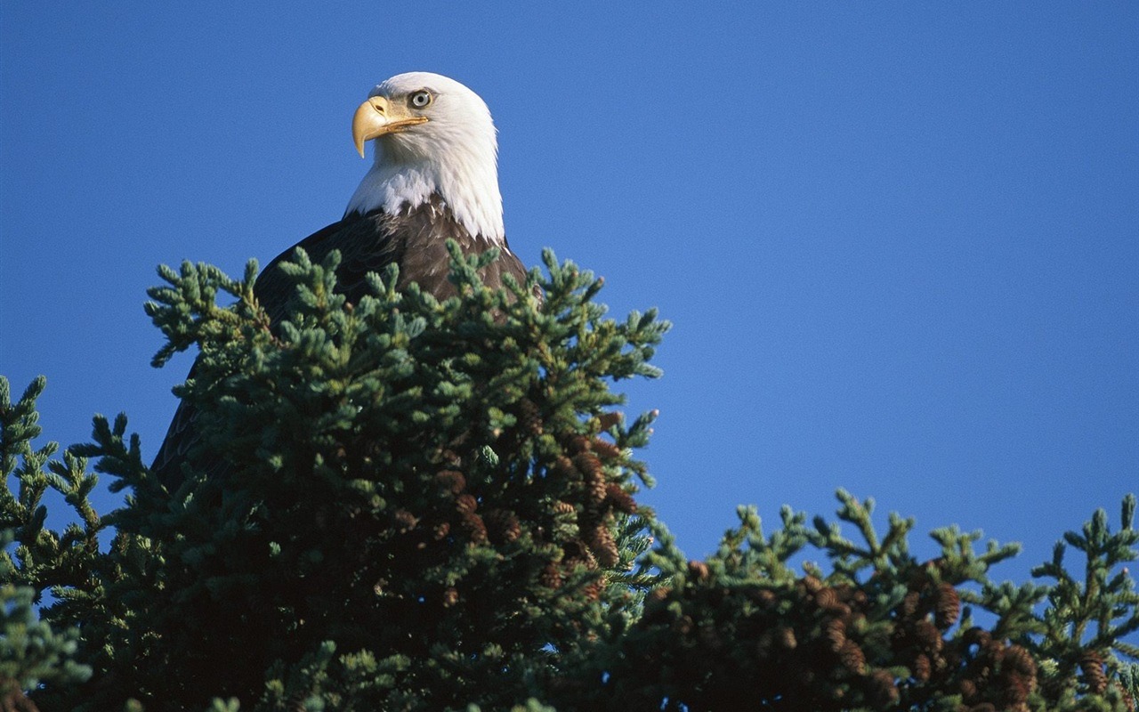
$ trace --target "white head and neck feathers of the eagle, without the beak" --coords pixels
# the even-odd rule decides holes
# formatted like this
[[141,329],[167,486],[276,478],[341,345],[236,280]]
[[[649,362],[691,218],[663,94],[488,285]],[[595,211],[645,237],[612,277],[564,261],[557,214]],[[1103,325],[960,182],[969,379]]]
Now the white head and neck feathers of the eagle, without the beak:
[[[423,92],[426,92],[424,96]],[[419,118],[371,140],[376,158],[345,214],[395,214],[440,197],[473,236],[503,242],[498,140],[486,104],[459,82],[428,72],[396,74],[368,95]]]

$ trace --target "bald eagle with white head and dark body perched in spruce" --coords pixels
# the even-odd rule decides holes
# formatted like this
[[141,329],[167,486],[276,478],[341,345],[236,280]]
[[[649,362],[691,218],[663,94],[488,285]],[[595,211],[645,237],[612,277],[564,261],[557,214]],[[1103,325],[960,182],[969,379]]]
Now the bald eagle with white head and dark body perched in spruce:
[[[254,294],[273,326],[292,296],[278,265],[296,247],[314,262],[341,252],[338,289],[349,302],[367,293],[368,272],[391,263],[400,268],[398,287],[413,281],[439,298],[453,295],[448,239],[466,254],[499,248],[499,259],[482,273],[486,286],[500,287],[503,273],[525,283],[526,270],[506,242],[494,122],[478,95],[439,74],[398,74],[377,84],[355,111],[352,139],[361,157],[371,141],[375,161],[344,218],[277,255],[257,277]],[[180,404],[151,465],[167,486],[182,481],[192,420],[194,409]]]

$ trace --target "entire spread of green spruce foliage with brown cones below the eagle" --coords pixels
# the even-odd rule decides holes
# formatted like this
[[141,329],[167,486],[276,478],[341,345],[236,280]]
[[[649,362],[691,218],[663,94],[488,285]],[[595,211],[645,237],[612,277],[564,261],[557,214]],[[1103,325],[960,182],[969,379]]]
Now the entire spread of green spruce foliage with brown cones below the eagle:
[[[658,375],[667,322],[607,319],[550,253],[501,290],[493,253],[451,254],[457,297],[390,269],[349,304],[338,256],[298,251],[276,327],[255,263],[162,268],[155,365],[200,352],[179,482],[124,416],[52,459],[43,379],[14,403],[0,378],[0,710],[1136,709],[1133,498],[1038,583],[992,581],[1017,547],[956,527],[917,560],[912,521],[842,491],[836,522],[785,508],[770,534],[740,508],[690,562],[634,500],[654,414],[611,390]],[[91,461],[125,506],[95,512]]]

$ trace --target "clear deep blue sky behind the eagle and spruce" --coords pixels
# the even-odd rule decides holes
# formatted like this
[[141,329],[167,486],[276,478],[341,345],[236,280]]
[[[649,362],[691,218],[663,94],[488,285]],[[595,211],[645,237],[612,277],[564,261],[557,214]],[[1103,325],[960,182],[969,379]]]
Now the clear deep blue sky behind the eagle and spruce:
[[1024,580],[1139,491],[1139,5],[317,7],[0,6],[0,374],[49,437],[125,411],[151,457],[155,265],[337,220],[352,112],[425,69],[495,116],[515,252],[675,324],[622,387],[689,556],[845,486]]

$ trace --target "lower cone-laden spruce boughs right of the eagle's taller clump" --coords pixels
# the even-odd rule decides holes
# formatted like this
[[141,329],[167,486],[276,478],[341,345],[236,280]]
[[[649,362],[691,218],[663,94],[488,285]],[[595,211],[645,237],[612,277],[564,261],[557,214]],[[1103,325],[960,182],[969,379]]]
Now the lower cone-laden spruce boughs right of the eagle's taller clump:
[[[1126,570],[1107,576],[1137,555],[1132,496],[1120,532],[1098,512],[1083,538],[1065,534],[1087,554],[1092,594],[1074,582],[995,584],[989,570],[1019,547],[977,551],[981,533],[956,527],[932,532],[941,555],[919,562],[907,545],[912,521],[891,515],[879,534],[872,500],[842,490],[838,499],[838,519],[861,541],[789,508],[770,538],[755,510],[740,508],[739,529],[703,562],[686,560],[661,532],[647,558],[669,583],[649,592],[631,628],[611,629],[598,660],[607,681],[575,701],[580,709],[1136,709],[1137,668],[1122,658],[1137,650],[1122,638],[1139,625],[1139,599]],[[809,550],[826,568],[793,568]],[[1068,576],[1059,558],[1042,574]]]

